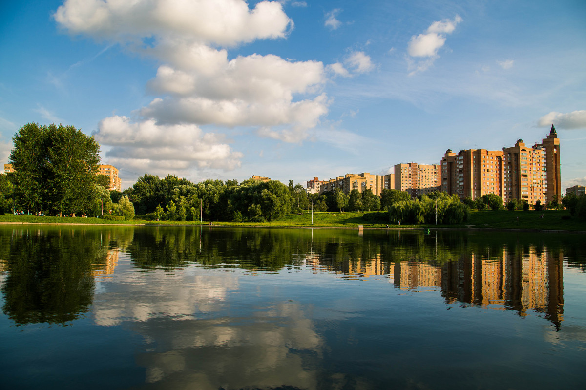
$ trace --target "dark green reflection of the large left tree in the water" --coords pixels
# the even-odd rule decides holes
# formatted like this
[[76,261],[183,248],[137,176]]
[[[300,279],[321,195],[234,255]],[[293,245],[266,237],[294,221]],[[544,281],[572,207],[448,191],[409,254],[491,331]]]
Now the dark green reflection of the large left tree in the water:
[[[86,313],[93,301],[94,272],[107,263],[112,230],[38,227],[0,231],[2,311],[16,325],[64,325]],[[115,246],[115,241],[112,243]]]

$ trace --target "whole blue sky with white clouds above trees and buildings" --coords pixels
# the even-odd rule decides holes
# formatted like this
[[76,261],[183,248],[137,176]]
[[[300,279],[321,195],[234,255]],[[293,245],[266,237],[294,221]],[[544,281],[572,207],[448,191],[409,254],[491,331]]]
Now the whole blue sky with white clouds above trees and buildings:
[[539,143],[586,185],[586,2],[0,5],[0,160],[26,123],[93,135],[122,188],[295,184]]

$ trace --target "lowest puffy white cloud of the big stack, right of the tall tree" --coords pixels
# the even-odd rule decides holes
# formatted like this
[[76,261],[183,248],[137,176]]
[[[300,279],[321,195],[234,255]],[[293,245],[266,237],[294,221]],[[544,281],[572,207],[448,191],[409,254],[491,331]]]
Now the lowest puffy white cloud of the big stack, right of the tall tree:
[[111,116],[100,121],[94,136],[111,147],[105,154],[111,163],[151,172],[193,167],[233,170],[240,167],[243,157],[221,134],[204,133],[192,124],[159,125],[154,119],[137,123],[125,116]]

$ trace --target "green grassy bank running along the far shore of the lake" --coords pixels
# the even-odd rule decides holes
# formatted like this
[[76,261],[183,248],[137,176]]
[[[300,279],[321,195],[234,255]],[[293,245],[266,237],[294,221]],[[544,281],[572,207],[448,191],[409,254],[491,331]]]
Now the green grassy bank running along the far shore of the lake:
[[[543,214],[543,218],[540,216]],[[544,210],[544,211],[509,211],[509,210],[472,210],[471,220],[459,225],[401,225],[402,228],[478,228],[478,229],[545,229],[545,230],[568,230],[586,231],[586,222],[576,218],[568,218],[570,213],[567,210]],[[130,221],[113,221],[100,218],[69,218],[69,217],[38,217],[33,215],[0,215],[0,223],[81,223],[97,225],[200,225],[200,222],[192,221],[151,221],[133,219]],[[388,218],[386,213],[376,212],[343,212],[314,213],[312,225],[311,213],[289,214],[279,220],[272,222],[212,222],[213,225],[225,226],[272,226],[272,227],[358,227],[384,228],[387,226]],[[209,225],[204,221],[203,225]],[[389,227],[397,228],[398,225]]]

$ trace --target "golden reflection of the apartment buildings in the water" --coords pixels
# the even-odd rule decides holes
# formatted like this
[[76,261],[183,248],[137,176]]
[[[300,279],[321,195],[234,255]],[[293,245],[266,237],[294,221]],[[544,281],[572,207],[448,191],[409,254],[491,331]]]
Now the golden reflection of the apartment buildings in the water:
[[410,291],[439,289],[445,302],[468,303],[489,309],[544,313],[560,329],[563,322],[563,255],[535,246],[468,251],[443,265],[432,260],[385,261],[380,254],[333,262],[318,253],[307,254],[306,267],[346,279],[386,275],[395,287]]

